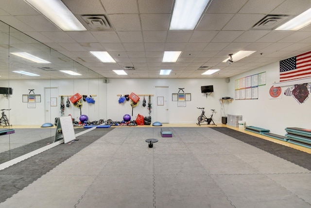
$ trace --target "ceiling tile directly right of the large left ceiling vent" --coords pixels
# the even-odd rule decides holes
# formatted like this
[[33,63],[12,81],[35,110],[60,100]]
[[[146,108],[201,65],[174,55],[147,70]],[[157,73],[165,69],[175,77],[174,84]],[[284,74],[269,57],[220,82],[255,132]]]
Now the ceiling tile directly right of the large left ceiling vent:
[[109,19],[116,31],[140,31],[138,14],[109,15]]

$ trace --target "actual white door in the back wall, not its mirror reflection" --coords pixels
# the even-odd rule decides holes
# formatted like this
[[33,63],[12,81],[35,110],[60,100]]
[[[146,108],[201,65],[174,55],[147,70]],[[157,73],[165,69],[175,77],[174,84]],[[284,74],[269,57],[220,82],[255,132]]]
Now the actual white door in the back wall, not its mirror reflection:
[[153,121],[169,123],[169,87],[155,87]]

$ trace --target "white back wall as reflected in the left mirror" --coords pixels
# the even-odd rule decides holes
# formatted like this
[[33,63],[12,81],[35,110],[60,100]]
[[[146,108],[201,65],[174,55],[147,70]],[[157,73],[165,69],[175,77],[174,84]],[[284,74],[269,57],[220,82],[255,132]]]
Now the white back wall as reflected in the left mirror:
[[[1,86],[8,86],[7,81],[1,81]],[[45,87],[58,87],[59,96],[73,95],[75,93],[96,95],[94,97],[95,104],[83,102],[82,114],[86,114],[89,121],[98,121],[106,118],[106,84],[104,84],[103,79],[10,80],[9,86],[13,88],[13,95],[9,99],[3,96],[0,97],[0,108],[12,109],[10,112],[6,112],[6,114],[13,125],[42,125],[45,122]],[[28,108],[27,103],[22,102],[22,95],[28,94],[28,89],[35,89],[35,94],[41,95],[41,103],[36,103],[35,108]],[[71,103],[70,107],[67,108],[66,101],[67,97],[64,97],[64,116],[70,114],[79,121],[80,109],[74,107]],[[60,97],[57,98],[57,106],[53,108],[57,108],[60,111]]]

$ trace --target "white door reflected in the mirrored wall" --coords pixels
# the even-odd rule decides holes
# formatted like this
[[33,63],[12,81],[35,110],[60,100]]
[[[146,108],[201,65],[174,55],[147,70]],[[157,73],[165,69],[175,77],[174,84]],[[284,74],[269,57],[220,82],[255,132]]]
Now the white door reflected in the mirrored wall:
[[[55,102],[56,101],[56,102]],[[59,97],[57,87],[44,88],[45,122],[54,123],[59,117]]]

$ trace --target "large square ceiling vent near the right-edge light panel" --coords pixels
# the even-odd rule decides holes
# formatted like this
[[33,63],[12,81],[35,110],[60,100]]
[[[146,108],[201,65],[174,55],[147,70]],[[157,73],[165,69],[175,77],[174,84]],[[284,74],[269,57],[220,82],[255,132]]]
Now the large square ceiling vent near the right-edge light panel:
[[276,27],[289,20],[289,15],[267,15],[259,20],[254,26],[253,30],[274,30]]

